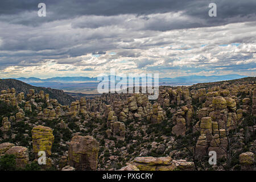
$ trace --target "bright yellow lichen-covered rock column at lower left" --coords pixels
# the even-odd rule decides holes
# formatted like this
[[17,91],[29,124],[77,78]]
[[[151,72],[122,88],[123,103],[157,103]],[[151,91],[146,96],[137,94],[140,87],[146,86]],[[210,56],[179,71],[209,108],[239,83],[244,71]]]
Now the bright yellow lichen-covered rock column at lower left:
[[52,129],[46,126],[35,126],[32,129],[33,151],[38,155],[39,151],[45,151],[46,155],[52,154],[52,143],[54,140]]

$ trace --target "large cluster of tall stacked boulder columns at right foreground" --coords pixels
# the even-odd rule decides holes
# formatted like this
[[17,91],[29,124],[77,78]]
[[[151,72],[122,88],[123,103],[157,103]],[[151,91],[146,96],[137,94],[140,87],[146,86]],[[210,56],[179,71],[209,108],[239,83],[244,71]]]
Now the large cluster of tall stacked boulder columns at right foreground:
[[218,159],[225,157],[226,147],[228,147],[226,133],[232,127],[237,126],[236,100],[227,97],[228,91],[221,90],[220,92],[225,97],[218,96],[218,92],[207,94],[206,101],[212,101],[212,104],[206,104],[205,106],[208,107],[199,111],[201,121],[200,126],[197,127],[199,127],[201,136],[196,144],[197,157],[207,155],[206,150],[216,151]]

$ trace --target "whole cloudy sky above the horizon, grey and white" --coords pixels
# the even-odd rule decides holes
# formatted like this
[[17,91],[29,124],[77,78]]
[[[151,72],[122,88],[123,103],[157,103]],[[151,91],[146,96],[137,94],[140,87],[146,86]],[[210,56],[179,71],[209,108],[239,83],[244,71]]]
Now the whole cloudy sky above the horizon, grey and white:
[[111,68],[256,76],[255,10],[255,0],[1,0],[0,77],[97,77]]

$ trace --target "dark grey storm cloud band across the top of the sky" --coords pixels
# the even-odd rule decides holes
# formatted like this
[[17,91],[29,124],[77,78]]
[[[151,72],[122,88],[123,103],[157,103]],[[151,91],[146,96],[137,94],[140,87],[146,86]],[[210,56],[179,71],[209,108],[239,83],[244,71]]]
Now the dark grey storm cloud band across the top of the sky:
[[[46,18],[39,18],[36,16],[38,11],[38,4],[40,2],[46,3],[47,16]],[[217,5],[217,17],[211,18],[208,16],[209,3],[214,2]],[[190,19],[194,19],[192,22],[189,20],[177,22],[166,22],[163,19],[156,19],[157,22],[147,24],[145,29],[148,30],[173,30],[179,28],[195,28],[203,26],[217,26],[220,24],[244,22],[255,20],[256,1],[233,1],[233,0],[86,0],[86,1],[10,1],[1,0],[0,6],[0,20],[5,20],[10,23],[25,24],[29,26],[39,26],[42,22],[51,22],[52,20],[72,19],[82,15],[101,15],[101,16],[113,16],[120,14],[135,14],[135,15],[149,15],[157,13],[178,12],[182,11],[183,15],[189,16]],[[22,13],[34,12],[27,14],[26,18],[22,16]],[[9,15],[9,16],[6,16]],[[10,16],[11,15],[11,16]],[[145,20],[150,19],[147,16]],[[196,22],[196,20],[200,20]],[[104,24],[119,23],[120,19],[113,19],[107,22],[91,22],[92,28],[104,26]],[[156,23],[158,26],[155,26]],[[78,26],[75,24],[74,26]],[[86,24],[81,24],[85,26]],[[88,26],[88,24],[87,24]]]

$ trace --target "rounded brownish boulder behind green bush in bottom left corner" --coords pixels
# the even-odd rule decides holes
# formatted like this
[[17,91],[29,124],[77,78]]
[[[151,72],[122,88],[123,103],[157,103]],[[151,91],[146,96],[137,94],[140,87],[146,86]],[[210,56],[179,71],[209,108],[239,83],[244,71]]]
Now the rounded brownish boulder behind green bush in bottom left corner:
[[15,155],[17,168],[24,168],[28,164],[28,149],[26,147],[11,147],[6,154]]

